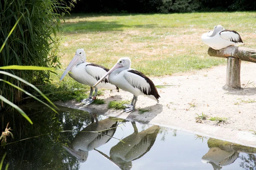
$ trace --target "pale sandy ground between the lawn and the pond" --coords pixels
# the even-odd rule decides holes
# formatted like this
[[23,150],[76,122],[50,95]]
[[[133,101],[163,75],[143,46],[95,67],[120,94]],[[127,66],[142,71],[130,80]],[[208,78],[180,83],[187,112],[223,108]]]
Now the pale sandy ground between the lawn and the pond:
[[[131,100],[126,91],[105,91],[104,105],[84,106],[79,102],[56,102],[56,105],[81,109],[93,113],[116,116],[128,120],[151,123],[185,130],[202,136],[214,137],[230,142],[256,147],[256,76],[255,63],[241,63],[241,89],[225,90],[226,66],[218,66],[195,72],[181,73],[169,77],[151,78],[155,85],[171,85],[158,88],[160,102],[139,96],[137,111],[125,113],[108,109],[111,100]],[[140,114],[138,108],[149,109]],[[204,120],[197,123],[196,115],[204,113],[210,117],[225,117],[227,122],[216,124]]]

